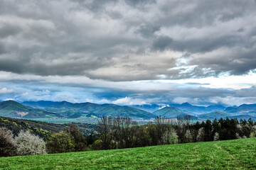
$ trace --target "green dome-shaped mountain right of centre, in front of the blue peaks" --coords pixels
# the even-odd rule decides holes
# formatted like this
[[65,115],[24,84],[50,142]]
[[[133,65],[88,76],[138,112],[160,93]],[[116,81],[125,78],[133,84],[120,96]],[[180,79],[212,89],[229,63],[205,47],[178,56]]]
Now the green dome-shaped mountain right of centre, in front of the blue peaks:
[[164,107],[157,111],[154,111],[154,115],[161,115],[165,118],[177,118],[178,116],[184,117],[188,115],[188,113],[181,111],[181,109],[175,108],[173,106],[171,107]]

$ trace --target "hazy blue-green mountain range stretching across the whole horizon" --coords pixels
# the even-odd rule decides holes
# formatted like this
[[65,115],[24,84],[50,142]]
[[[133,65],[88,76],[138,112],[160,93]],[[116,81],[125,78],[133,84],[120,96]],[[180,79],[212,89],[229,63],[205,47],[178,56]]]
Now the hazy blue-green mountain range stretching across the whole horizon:
[[[150,111],[150,112],[149,112]],[[0,102],[0,115],[10,118],[100,118],[106,116],[124,116],[139,119],[151,119],[156,116],[177,118],[190,115],[197,120],[215,118],[252,118],[256,120],[256,104],[243,104],[238,107],[193,106],[190,103],[142,106],[119,106],[116,104],[70,103],[68,101],[16,101]]]

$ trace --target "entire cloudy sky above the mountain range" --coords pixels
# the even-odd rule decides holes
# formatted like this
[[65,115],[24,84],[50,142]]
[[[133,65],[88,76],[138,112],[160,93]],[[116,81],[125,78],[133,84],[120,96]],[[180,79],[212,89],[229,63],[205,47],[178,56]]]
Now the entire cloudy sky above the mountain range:
[[255,0],[0,4],[0,101],[256,103]]

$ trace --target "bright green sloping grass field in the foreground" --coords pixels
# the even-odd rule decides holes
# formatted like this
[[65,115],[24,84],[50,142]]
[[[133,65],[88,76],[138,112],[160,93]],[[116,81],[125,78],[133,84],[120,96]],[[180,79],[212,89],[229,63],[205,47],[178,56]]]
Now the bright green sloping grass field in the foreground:
[[256,138],[6,157],[0,169],[256,169]]

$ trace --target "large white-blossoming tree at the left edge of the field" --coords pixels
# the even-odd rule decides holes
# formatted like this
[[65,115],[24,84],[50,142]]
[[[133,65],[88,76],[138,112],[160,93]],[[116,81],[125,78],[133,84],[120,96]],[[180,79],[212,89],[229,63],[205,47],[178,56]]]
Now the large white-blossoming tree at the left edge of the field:
[[46,143],[41,137],[31,134],[29,131],[18,133],[15,137],[18,155],[47,154]]

